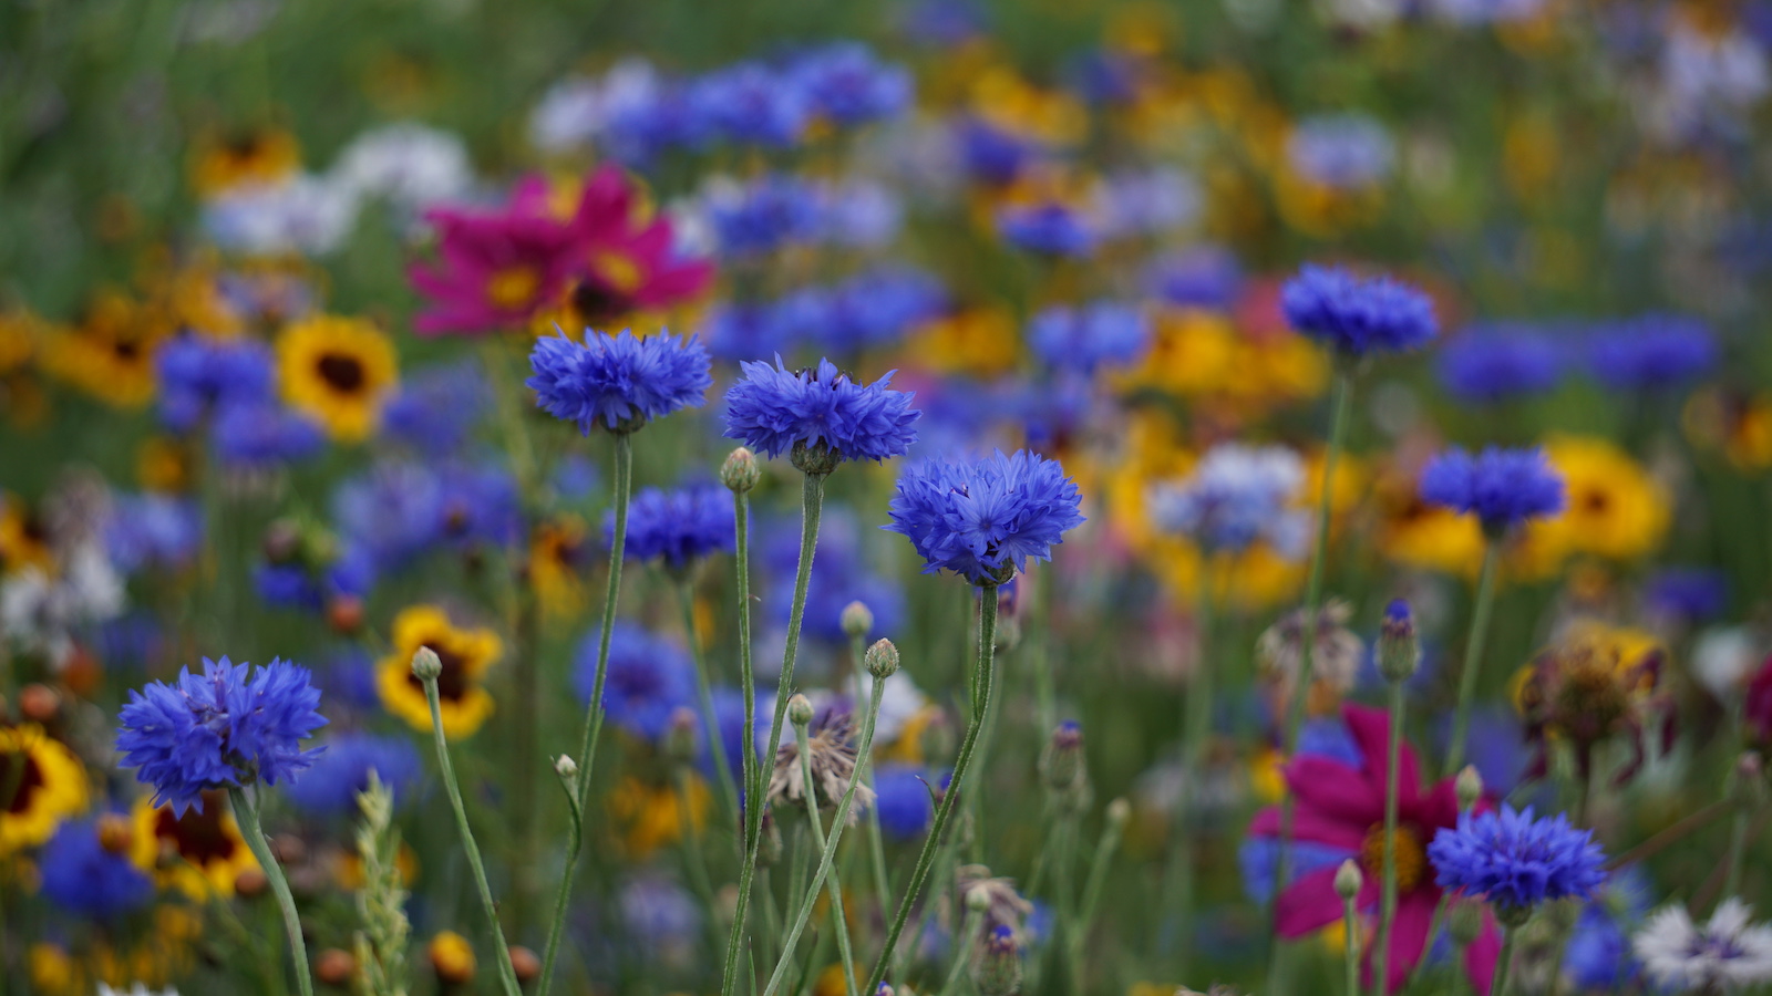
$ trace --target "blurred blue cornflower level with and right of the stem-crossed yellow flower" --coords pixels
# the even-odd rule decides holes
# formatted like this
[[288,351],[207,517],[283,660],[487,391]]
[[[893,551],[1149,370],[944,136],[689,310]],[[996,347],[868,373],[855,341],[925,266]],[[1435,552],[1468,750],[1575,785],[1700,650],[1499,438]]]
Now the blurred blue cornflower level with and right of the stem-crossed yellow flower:
[[[578,695],[590,702],[597,681],[597,642],[592,629],[578,647]],[[602,709],[629,734],[656,743],[679,707],[695,709],[695,672],[682,647],[661,640],[634,622],[617,620],[610,633],[610,670]]]

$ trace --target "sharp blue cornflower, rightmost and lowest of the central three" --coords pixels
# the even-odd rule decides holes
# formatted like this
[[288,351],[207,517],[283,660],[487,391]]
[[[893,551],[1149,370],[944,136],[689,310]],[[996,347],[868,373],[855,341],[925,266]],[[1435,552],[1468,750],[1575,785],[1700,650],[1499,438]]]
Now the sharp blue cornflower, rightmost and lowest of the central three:
[[927,560],[925,574],[953,571],[975,585],[999,585],[1051,560],[1065,530],[1083,523],[1077,486],[1058,461],[1026,450],[966,464],[909,466],[891,500],[890,532],[904,533]]

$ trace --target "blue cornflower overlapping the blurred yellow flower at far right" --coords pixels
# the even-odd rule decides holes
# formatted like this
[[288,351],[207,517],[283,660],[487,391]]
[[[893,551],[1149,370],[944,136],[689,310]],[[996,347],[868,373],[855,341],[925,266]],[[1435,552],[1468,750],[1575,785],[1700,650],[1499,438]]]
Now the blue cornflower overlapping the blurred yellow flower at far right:
[[1476,455],[1451,448],[1421,468],[1421,500],[1474,514],[1483,532],[1494,535],[1561,512],[1563,477],[1538,448],[1488,447]]

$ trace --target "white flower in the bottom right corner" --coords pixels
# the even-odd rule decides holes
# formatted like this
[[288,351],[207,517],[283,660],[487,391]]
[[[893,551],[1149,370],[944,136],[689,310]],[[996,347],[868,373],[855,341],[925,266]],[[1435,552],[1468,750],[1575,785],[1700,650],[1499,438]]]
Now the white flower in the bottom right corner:
[[1682,992],[1738,991],[1772,980],[1772,927],[1749,925],[1753,907],[1729,897],[1703,927],[1680,906],[1650,916],[1632,939],[1643,969]]

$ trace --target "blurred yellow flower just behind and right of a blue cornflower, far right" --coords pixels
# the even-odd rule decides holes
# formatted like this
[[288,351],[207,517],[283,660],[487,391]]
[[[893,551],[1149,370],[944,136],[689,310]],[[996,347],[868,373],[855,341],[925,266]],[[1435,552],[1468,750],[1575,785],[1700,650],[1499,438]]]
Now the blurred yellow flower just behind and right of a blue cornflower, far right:
[[1609,560],[1636,560],[1660,546],[1673,516],[1671,498],[1643,464],[1589,436],[1552,438],[1545,455],[1563,475],[1565,509],[1529,523],[1527,542]]

